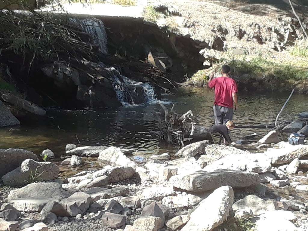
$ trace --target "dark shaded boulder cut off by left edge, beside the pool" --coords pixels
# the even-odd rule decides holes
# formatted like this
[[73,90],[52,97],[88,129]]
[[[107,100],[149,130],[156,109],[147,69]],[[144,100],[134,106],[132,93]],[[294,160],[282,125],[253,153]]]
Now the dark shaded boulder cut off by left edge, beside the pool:
[[39,161],[39,158],[33,152],[24,149],[0,149],[0,177],[18,168],[26,159]]

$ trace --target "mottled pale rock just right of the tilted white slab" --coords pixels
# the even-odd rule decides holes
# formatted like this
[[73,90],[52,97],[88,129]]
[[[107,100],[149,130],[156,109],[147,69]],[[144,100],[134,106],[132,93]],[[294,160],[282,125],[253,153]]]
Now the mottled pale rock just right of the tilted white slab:
[[277,201],[274,200],[263,200],[256,195],[248,195],[243,199],[235,202],[232,206],[233,211],[238,209],[251,209],[253,215],[261,215],[267,211],[276,210],[277,208]]

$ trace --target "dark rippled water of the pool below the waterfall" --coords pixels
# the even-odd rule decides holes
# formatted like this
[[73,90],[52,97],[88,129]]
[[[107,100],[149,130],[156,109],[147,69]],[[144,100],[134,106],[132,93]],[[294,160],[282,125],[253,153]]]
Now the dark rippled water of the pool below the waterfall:
[[[192,110],[197,125],[208,128],[213,124],[214,93],[203,88],[182,88],[174,94],[163,95],[169,105],[175,104],[178,113]],[[237,126],[274,123],[286,94],[239,94],[240,108],[234,114]],[[105,145],[136,148],[141,155],[175,152],[179,147],[160,142],[149,131],[158,130],[152,111],[155,104],[67,111],[47,109],[48,118],[37,123],[15,128],[0,129],[0,148],[25,148],[40,154],[50,148],[59,157],[65,154],[66,144]],[[293,95],[280,119],[291,120],[298,112],[308,111],[306,95]],[[254,132],[266,133],[266,129],[237,128],[232,131],[234,140]],[[78,137],[78,140],[77,140]]]

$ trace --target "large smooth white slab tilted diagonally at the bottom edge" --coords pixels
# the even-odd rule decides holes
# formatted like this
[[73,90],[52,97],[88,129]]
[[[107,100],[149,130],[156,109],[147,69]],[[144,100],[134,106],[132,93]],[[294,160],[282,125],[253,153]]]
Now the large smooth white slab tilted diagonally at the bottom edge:
[[181,231],[214,229],[227,220],[233,201],[234,193],[230,186],[217,188],[209,197],[199,203]]

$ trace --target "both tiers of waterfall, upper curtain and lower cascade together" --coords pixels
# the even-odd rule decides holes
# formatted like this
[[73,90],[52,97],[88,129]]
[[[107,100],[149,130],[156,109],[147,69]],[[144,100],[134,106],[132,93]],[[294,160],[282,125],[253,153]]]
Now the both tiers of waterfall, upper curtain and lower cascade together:
[[[103,22],[96,18],[70,18],[72,23],[81,26],[83,32],[88,33],[94,42],[100,46],[103,54],[108,54],[107,34]],[[104,63],[99,63],[106,71],[108,78],[112,80],[112,85],[118,100],[123,106],[137,105],[142,103],[156,103],[156,93],[154,87],[149,83],[136,82],[121,75],[114,67],[107,67]]]

